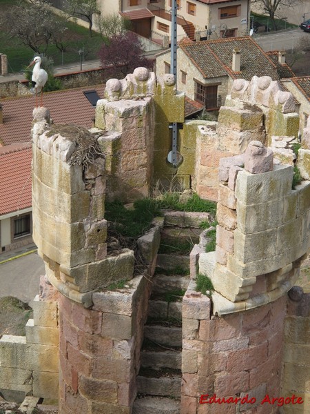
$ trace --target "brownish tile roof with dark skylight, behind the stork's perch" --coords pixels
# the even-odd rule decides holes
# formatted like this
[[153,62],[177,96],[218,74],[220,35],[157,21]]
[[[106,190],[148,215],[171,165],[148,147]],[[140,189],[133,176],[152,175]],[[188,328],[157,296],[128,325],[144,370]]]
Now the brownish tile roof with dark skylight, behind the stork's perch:
[[[70,90],[43,93],[43,106],[50,110],[55,124],[76,124],[92,127],[95,108],[83,91],[95,89],[103,98],[104,86],[87,86]],[[15,97],[1,101],[3,124],[0,124],[0,146],[15,142],[30,142],[32,110],[35,97]]]

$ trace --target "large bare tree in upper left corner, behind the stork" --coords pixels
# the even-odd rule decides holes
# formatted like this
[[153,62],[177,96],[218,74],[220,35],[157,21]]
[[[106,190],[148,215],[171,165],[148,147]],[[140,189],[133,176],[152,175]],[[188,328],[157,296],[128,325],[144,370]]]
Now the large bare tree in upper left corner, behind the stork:
[[36,53],[46,52],[52,42],[52,34],[59,28],[46,0],[21,1],[10,7],[1,16],[1,26],[11,38],[19,41]]

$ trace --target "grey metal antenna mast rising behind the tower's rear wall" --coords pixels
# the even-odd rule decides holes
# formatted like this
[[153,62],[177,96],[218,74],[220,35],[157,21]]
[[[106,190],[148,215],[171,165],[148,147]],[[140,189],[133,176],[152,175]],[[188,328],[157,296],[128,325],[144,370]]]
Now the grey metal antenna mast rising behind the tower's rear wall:
[[[170,73],[174,75],[174,79],[176,81],[176,48],[177,48],[177,25],[176,25],[176,17],[177,17],[177,10],[178,6],[176,0],[172,0],[172,19],[171,19],[171,56],[170,56]],[[183,162],[183,157],[177,151],[178,145],[178,124],[177,122],[172,122],[172,125],[169,126],[172,128],[172,150],[169,151],[167,155],[167,161],[169,164],[172,164],[174,168],[178,168],[180,164]]]

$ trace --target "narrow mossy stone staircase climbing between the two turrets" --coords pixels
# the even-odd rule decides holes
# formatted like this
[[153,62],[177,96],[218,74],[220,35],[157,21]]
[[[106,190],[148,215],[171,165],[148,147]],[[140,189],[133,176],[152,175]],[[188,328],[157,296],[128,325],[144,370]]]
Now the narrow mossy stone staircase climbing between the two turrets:
[[[133,414],[180,414],[182,299],[190,280],[189,251],[201,229],[175,214],[165,216],[161,230]],[[179,253],[178,246],[183,250],[186,242],[188,252]]]

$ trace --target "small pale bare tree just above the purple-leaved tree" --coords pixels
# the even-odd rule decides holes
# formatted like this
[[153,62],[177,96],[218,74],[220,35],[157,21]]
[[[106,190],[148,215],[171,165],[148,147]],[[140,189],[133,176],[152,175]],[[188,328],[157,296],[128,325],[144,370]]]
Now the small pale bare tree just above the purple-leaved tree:
[[108,44],[109,39],[130,30],[131,22],[129,19],[121,17],[118,13],[114,13],[99,17],[97,25],[104,43]]

